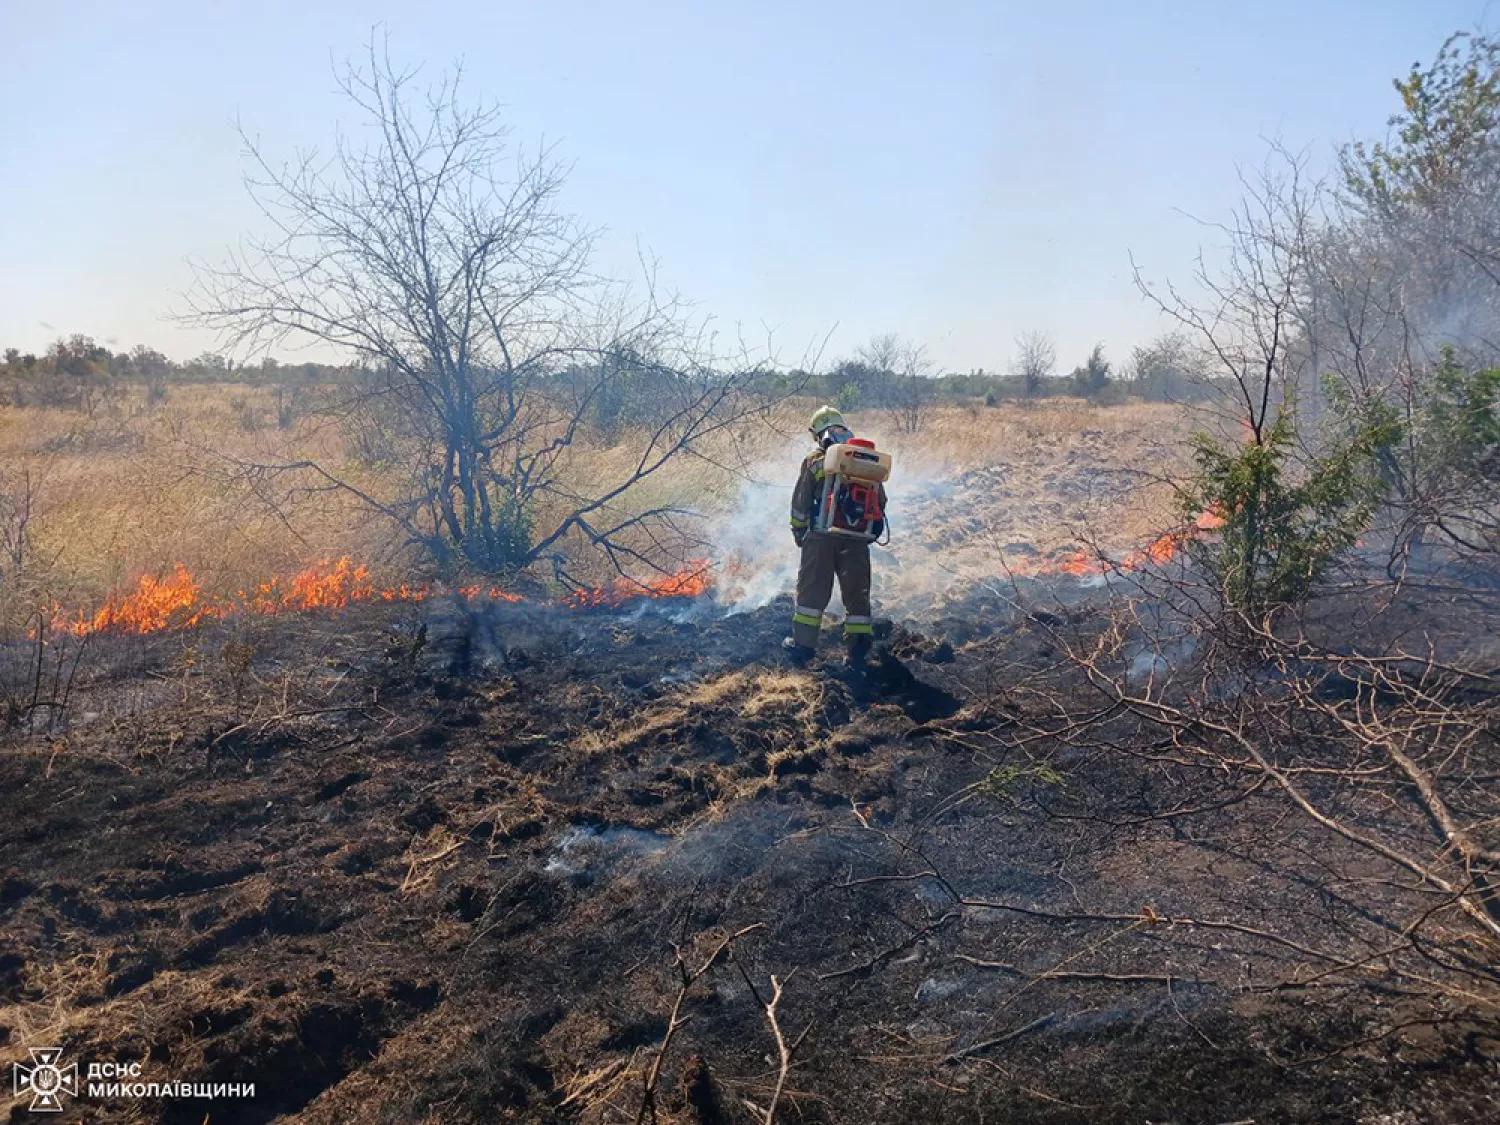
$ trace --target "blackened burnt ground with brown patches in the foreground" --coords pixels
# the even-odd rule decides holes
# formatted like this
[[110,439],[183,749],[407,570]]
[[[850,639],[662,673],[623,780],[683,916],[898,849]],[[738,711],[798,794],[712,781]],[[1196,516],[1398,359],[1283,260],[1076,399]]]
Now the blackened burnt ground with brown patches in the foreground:
[[0,1062],[256,1086],[63,1120],[764,1120],[774,975],[783,1122],[1500,1120],[1492,1029],[1272,987],[1358,908],[1257,855],[1260,795],[1106,814],[1167,796],[998,754],[1054,618],[975,602],[855,674],[784,666],[786,614],[96,640],[0,756]]

